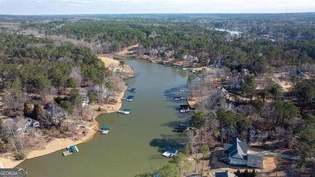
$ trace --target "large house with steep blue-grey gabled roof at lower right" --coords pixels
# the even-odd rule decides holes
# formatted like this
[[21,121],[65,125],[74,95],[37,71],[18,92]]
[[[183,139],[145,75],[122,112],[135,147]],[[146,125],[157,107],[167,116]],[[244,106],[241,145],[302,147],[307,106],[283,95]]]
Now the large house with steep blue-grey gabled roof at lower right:
[[[246,143],[241,142],[237,137],[228,144],[224,143],[222,155],[228,152],[227,161],[230,165],[246,165],[248,167],[263,168],[263,159],[259,155],[247,154]],[[226,159],[226,157],[223,157]],[[223,159],[221,158],[221,159]]]

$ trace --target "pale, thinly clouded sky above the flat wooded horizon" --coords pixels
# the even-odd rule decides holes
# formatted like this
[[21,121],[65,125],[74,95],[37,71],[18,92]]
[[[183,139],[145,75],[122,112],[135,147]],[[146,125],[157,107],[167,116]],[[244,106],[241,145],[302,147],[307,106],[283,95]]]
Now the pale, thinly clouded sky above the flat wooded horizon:
[[0,0],[0,14],[315,12],[315,0]]

